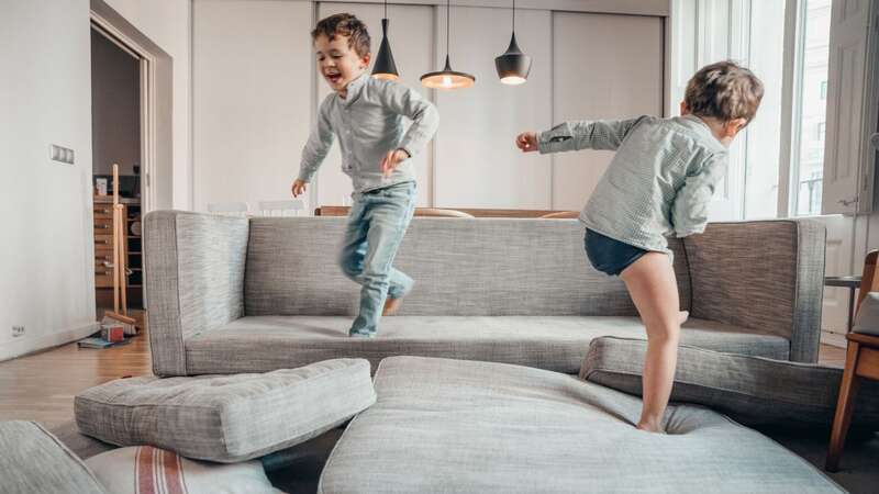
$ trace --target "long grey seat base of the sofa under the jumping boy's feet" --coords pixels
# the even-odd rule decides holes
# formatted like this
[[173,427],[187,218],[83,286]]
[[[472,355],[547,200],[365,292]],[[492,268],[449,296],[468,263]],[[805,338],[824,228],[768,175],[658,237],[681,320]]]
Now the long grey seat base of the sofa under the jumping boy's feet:
[[[338,356],[368,359],[418,356],[514,363],[576,374],[600,336],[644,338],[637,317],[397,316],[381,319],[375,339],[349,338],[351,317],[254,316],[188,338],[189,373],[294,368]],[[688,345],[787,359],[790,341],[704,319],[687,322]]]

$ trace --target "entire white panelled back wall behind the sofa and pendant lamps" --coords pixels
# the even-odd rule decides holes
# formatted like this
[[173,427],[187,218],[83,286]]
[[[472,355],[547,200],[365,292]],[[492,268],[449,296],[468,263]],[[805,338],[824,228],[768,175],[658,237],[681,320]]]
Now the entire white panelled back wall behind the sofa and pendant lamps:
[[[309,34],[314,19],[356,14],[369,27],[376,53],[383,10],[371,3],[321,2],[312,14],[309,2],[194,0],[197,210],[227,201],[253,210],[257,201],[290,197],[314,108],[329,94],[315,78]],[[663,18],[537,8],[544,4],[549,5],[518,11],[518,41],[534,60],[527,83],[519,87],[501,85],[494,70],[494,57],[510,42],[511,10],[454,7],[452,65],[477,78],[475,87],[455,91],[427,90],[419,81],[442,68],[446,10],[390,5],[400,82],[433,100],[441,114],[436,139],[415,158],[419,205],[579,209],[607,154],[523,155],[513,137],[564,119],[663,113]],[[340,170],[337,148],[312,184],[310,206],[349,201],[351,179]]]

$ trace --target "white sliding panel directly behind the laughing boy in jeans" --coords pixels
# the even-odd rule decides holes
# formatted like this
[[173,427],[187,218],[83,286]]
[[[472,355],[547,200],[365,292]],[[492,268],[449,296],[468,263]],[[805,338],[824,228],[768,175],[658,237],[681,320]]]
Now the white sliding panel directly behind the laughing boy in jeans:
[[[381,18],[385,14],[385,8],[380,4],[343,2],[322,2],[318,8],[319,19],[342,12],[352,13],[366,23],[372,40],[371,49],[375,58],[381,44]],[[390,20],[388,40],[391,43],[397,70],[400,72],[398,82],[415,89],[429,99],[430,90],[421,86],[419,78],[422,74],[432,70],[433,67],[431,63],[434,53],[433,12],[433,8],[427,5],[388,5],[388,19]],[[313,58],[312,56],[312,65],[314,65]],[[371,72],[372,67],[370,66],[368,70]],[[330,87],[319,75],[318,105],[330,92]],[[421,149],[413,160],[419,182],[418,205],[431,205],[433,142]],[[351,201],[351,178],[342,172],[337,142],[333,144],[332,150],[318,172],[316,186],[316,205],[345,205]]]

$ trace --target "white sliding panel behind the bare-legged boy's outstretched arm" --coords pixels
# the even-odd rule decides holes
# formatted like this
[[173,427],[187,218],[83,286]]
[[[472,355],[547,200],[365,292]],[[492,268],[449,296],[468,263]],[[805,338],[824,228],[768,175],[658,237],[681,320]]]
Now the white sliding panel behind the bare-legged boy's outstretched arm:
[[[625,119],[663,114],[663,19],[553,14],[553,120]],[[579,210],[613,156],[553,155],[553,209]]]

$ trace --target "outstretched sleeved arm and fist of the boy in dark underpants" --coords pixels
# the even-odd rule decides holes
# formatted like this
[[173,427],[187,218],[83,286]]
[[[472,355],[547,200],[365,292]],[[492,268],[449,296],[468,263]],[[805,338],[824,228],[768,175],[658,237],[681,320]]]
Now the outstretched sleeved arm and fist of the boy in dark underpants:
[[539,134],[522,133],[516,137],[516,146],[525,153],[537,149],[542,155],[579,149],[615,150],[644,119],[649,116],[565,122]]

